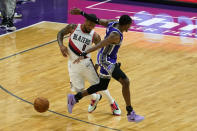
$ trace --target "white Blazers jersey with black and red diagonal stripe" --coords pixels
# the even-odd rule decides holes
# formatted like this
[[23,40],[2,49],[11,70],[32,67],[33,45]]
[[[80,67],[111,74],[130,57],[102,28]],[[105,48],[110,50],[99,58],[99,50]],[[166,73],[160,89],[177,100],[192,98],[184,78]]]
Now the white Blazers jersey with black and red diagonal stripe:
[[[91,48],[93,37],[94,30],[90,33],[84,33],[81,29],[81,24],[78,24],[69,39],[69,58],[76,59],[80,53]],[[87,57],[90,58],[90,54],[87,54]]]

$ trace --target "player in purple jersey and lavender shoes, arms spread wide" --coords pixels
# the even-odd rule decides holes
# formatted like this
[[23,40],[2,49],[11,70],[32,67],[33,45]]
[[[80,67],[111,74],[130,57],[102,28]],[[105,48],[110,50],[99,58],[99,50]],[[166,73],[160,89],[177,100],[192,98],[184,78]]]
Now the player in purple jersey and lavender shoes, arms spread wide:
[[120,66],[116,63],[117,53],[123,40],[123,32],[127,32],[132,24],[132,19],[128,15],[122,15],[119,21],[98,19],[91,17],[78,8],[72,9],[71,14],[83,15],[86,19],[94,21],[96,24],[100,24],[106,27],[105,39],[92,48],[89,48],[85,52],[80,54],[80,57],[75,60],[74,63],[79,63],[80,60],[85,59],[86,55],[99,48],[100,51],[97,55],[97,62],[100,69],[100,82],[98,84],[90,86],[87,90],[78,92],[76,95],[68,95],[68,111],[72,112],[74,105],[82,99],[84,96],[92,93],[106,90],[110,81],[113,77],[119,81],[122,85],[122,94],[126,103],[127,119],[129,122],[140,122],[144,120],[143,116],[137,115],[131,106],[130,101],[130,81],[126,74],[120,69]]

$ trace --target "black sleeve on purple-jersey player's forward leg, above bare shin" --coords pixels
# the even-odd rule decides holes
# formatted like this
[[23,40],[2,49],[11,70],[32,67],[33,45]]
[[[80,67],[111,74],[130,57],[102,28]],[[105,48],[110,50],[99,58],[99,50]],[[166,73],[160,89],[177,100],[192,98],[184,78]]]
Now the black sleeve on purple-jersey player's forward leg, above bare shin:
[[120,78],[126,79],[127,76],[125,73],[120,69],[120,65],[116,64],[114,71],[112,72],[112,77],[116,80],[119,80]]

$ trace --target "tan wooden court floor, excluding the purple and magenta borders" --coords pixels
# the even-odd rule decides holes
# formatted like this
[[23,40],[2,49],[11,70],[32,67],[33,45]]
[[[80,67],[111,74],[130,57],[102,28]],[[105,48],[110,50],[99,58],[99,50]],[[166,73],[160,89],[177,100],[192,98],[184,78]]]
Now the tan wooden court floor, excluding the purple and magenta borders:
[[[67,112],[71,93],[67,58],[59,50],[57,32],[66,24],[42,22],[0,37],[0,131],[196,131],[197,40],[139,32],[124,34],[118,61],[131,80],[132,105],[145,116],[129,123],[121,85],[109,91],[122,115],[113,116],[103,98],[89,114],[90,98]],[[95,29],[103,38],[105,29]],[[65,39],[65,44],[67,39]],[[95,61],[95,53],[92,54]],[[88,83],[86,83],[88,87]],[[36,97],[46,97],[50,110],[34,111]]]

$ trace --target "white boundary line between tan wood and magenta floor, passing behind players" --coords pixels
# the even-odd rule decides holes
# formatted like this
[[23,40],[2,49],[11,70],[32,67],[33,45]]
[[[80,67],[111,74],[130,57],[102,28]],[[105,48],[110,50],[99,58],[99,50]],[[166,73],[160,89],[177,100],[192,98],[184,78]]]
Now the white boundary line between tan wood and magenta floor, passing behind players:
[[[53,21],[45,21],[45,22],[49,22],[49,23],[60,23],[60,24],[69,24],[69,23],[53,22]],[[106,29],[105,27],[95,27],[95,28]],[[171,37],[197,39],[197,38],[185,37],[185,36],[175,36],[175,35],[166,35],[166,34],[147,33],[147,32],[132,31],[132,30],[128,30],[128,32],[136,32],[136,33],[143,33],[143,34],[152,34],[152,35],[161,35],[161,36],[171,36]]]

